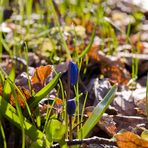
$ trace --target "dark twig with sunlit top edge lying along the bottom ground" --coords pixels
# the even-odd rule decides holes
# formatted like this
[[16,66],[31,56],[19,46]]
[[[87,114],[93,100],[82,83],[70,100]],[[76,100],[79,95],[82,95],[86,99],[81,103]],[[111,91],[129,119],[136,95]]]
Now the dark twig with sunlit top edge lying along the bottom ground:
[[[101,138],[101,137],[91,137],[91,138],[86,138],[86,139],[74,139],[72,141],[66,140],[67,145],[81,145],[81,144],[106,144],[106,145],[113,145],[117,146],[116,142],[111,140],[111,139],[106,139],[106,138]],[[52,145],[52,148],[57,148],[59,147],[59,144],[54,144]]]

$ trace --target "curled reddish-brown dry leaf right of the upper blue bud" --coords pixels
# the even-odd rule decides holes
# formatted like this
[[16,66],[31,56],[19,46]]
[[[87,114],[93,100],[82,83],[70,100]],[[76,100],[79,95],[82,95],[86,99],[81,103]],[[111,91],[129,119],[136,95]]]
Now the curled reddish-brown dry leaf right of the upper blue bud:
[[111,83],[127,84],[130,80],[130,74],[125,69],[124,63],[119,59],[107,57],[97,46],[93,46],[90,50],[89,59],[100,65],[100,71],[105,78],[108,78]]

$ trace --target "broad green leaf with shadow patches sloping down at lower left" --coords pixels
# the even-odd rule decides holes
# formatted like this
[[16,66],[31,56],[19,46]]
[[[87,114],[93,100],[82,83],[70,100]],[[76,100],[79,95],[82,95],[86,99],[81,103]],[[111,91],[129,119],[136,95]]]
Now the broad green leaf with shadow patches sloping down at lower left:
[[[11,106],[5,99],[0,96],[0,112],[1,115],[7,118],[12,124],[21,129],[21,123],[16,109]],[[33,140],[43,139],[44,134],[38,130],[34,125],[29,123],[24,117],[24,129],[25,133]]]

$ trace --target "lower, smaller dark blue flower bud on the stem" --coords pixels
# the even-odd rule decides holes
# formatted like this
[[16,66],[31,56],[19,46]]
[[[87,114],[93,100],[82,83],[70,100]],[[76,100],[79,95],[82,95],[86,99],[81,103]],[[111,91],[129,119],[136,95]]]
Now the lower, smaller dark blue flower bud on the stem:
[[67,114],[69,116],[72,116],[75,113],[75,110],[76,110],[76,101],[75,101],[75,99],[69,99],[67,101],[66,109],[67,109]]

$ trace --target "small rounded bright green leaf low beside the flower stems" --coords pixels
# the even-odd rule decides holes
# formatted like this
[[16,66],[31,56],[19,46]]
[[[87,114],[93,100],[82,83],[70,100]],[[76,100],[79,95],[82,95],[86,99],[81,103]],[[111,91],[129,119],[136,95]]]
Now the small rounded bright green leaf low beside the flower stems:
[[46,127],[46,137],[49,141],[60,141],[62,140],[65,132],[66,125],[57,119],[51,119]]

